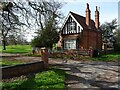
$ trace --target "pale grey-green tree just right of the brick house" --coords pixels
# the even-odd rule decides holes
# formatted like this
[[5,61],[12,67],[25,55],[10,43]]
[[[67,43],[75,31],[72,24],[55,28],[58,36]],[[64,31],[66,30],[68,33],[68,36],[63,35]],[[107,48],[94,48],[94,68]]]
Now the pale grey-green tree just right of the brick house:
[[105,22],[101,25],[101,29],[103,30],[103,43],[105,45],[105,52],[108,47],[114,48],[114,33],[113,31],[117,28],[117,19],[112,20],[112,22]]

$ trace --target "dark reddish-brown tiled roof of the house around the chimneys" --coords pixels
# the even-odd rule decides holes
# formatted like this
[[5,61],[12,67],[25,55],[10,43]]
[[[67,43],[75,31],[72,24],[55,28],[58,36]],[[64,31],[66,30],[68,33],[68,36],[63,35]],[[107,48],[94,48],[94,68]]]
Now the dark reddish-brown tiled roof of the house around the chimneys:
[[[88,26],[86,25],[86,20],[85,20],[85,17],[81,16],[81,15],[78,15],[76,13],[73,13],[70,11],[70,13],[73,15],[73,17],[78,21],[78,23],[83,27],[83,28],[86,28],[88,29]],[[91,29],[92,30],[96,30],[96,27],[95,27],[95,22],[93,20],[91,20]]]

